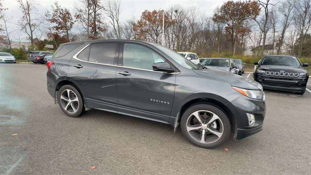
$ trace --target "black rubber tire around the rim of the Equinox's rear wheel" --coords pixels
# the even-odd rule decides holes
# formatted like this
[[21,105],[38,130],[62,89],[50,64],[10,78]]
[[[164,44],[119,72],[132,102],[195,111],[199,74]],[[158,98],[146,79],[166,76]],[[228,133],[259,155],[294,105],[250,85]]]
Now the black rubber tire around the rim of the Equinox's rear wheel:
[[[67,110],[65,110],[62,106],[62,103],[61,103],[61,95],[62,95],[62,92],[65,91],[65,90],[71,90],[72,92],[75,93],[75,95],[77,96],[78,98],[78,108],[77,108],[77,111],[74,112],[74,113],[69,113]],[[86,111],[85,111],[85,107],[84,107],[84,101],[82,100],[82,94],[75,88],[73,87],[72,85],[64,85],[63,87],[61,87],[59,89],[59,93],[58,93],[58,104],[59,104],[59,107],[62,109],[62,111],[67,115],[67,116],[70,116],[70,117],[78,117],[82,114],[84,114]]]

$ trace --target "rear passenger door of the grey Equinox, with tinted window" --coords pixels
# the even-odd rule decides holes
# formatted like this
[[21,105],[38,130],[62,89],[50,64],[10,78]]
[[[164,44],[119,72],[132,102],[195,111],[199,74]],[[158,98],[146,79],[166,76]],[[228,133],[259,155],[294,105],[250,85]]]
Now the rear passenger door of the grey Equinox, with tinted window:
[[70,78],[80,87],[89,108],[117,111],[116,70],[119,42],[88,45],[69,62]]

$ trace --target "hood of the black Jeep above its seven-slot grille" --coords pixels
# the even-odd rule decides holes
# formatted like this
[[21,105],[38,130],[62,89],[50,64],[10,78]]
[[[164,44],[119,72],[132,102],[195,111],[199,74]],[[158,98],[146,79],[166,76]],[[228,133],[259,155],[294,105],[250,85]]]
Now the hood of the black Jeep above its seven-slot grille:
[[282,65],[260,65],[259,70],[275,71],[275,72],[288,72],[288,73],[303,73],[306,70],[299,66],[282,66]]

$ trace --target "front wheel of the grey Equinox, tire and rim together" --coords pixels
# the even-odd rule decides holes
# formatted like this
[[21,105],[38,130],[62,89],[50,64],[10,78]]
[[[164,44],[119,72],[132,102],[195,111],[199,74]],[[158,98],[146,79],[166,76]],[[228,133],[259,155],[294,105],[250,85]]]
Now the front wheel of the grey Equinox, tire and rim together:
[[181,130],[186,139],[202,148],[216,148],[230,136],[230,122],[225,112],[212,103],[196,103],[183,113]]

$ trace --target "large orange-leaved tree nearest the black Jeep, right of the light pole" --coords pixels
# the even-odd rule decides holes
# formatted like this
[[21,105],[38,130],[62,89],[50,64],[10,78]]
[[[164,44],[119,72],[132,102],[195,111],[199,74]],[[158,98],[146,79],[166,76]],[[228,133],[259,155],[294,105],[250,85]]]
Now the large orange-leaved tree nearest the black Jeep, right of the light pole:
[[213,16],[214,22],[222,22],[226,25],[226,35],[232,42],[233,55],[235,55],[237,39],[244,21],[256,19],[260,13],[259,4],[256,1],[227,1],[220,7],[220,12]]

